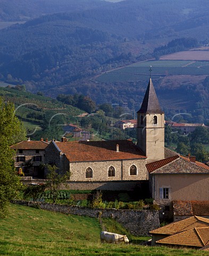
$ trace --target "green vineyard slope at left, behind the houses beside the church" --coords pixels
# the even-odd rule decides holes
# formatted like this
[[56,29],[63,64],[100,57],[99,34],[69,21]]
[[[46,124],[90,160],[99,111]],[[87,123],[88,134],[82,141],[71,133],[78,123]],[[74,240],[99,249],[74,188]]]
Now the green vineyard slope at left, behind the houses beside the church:
[[62,125],[76,122],[76,116],[84,112],[61,101],[17,89],[20,88],[0,87],[0,97],[14,103],[15,115],[23,121],[27,137],[32,139],[60,140]]

